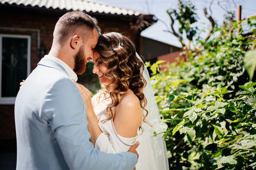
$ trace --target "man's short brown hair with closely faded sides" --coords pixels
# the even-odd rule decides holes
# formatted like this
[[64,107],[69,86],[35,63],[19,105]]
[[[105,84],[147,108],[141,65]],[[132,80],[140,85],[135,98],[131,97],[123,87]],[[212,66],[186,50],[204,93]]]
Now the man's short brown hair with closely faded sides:
[[82,11],[65,13],[55,25],[53,36],[62,45],[70,34],[80,34],[83,39],[92,36],[93,28],[100,34],[97,20]]

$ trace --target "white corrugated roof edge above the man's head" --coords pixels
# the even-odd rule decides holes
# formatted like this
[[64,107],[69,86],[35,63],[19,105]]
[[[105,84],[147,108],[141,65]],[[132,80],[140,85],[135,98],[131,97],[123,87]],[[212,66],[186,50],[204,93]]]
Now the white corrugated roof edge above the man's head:
[[96,1],[84,0],[0,0],[0,4],[10,4],[19,6],[32,6],[46,9],[86,11],[93,13],[106,13],[112,15],[150,15],[140,11],[128,10],[109,4],[103,4]]

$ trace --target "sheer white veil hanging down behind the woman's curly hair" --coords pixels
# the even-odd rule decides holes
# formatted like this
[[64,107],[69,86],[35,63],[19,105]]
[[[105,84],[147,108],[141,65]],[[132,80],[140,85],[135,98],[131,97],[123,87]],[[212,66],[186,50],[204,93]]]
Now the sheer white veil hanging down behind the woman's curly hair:
[[[136,56],[141,60],[138,53],[136,53]],[[163,132],[163,127],[161,126],[159,110],[157,108],[156,99],[150,83],[150,76],[146,67],[143,70],[143,77],[147,81],[147,85],[143,90],[143,94],[147,99],[146,109],[148,115],[146,119],[152,127],[145,122],[141,125],[143,133],[138,137],[140,145],[137,149],[140,155],[139,160],[141,159],[141,161],[138,161],[136,169],[166,170],[169,169],[169,166],[164,138],[161,134],[154,136],[154,131],[157,133]],[[143,167],[140,165],[140,162],[144,161],[148,162],[147,167],[145,167],[145,165]]]

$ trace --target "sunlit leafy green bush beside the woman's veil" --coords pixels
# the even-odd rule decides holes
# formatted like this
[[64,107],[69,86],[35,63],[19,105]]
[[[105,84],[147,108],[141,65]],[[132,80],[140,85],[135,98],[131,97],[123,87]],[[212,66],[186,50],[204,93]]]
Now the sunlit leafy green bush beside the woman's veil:
[[158,72],[151,66],[168,125],[163,135],[170,169],[256,169],[256,83],[248,82],[255,81],[256,56],[250,52],[244,60],[255,43],[255,18],[236,25],[232,32],[218,29],[179,66]]

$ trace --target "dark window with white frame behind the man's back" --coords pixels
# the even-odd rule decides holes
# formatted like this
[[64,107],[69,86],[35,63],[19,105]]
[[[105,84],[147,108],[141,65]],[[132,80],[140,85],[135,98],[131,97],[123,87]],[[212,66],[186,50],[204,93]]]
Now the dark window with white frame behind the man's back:
[[0,104],[14,104],[30,73],[30,36],[0,34]]

